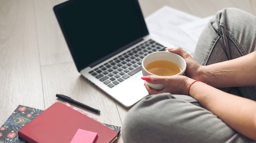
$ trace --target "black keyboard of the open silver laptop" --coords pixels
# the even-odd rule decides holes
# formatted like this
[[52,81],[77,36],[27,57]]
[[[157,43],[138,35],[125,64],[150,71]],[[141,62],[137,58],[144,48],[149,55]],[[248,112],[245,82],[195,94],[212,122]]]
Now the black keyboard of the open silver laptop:
[[149,39],[117,58],[100,65],[89,73],[112,88],[141,71],[141,61],[144,56],[152,52],[164,51],[164,49],[163,45]]

